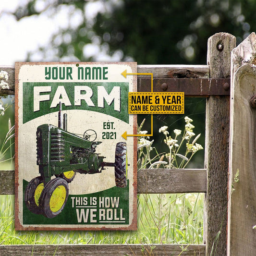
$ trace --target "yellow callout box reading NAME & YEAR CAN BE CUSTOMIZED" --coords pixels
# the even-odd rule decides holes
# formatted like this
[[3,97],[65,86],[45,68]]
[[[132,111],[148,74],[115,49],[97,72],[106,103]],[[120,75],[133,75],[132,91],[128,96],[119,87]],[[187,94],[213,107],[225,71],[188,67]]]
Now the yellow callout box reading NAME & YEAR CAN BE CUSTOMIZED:
[[184,114],[184,92],[129,92],[129,114]]

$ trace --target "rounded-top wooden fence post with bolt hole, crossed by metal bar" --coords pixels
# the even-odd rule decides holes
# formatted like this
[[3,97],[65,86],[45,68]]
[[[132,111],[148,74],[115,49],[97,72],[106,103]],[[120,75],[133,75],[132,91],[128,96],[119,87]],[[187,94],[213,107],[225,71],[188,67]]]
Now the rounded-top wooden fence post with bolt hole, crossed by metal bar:
[[[236,39],[218,33],[208,39],[210,78],[230,77],[231,51]],[[229,166],[229,96],[210,96],[206,104],[205,166],[207,193],[204,232],[206,255],[225,256],[227,245],[227,184]]]

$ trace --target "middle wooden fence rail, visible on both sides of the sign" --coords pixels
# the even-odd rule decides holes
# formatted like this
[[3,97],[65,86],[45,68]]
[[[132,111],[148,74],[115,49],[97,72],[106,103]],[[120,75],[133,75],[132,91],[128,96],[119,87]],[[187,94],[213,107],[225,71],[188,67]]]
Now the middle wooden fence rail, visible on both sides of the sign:
[[[138,193],[206,192],[205,169],[142,169]],[[0,171],[0,195],[14,194],[14,171]]]

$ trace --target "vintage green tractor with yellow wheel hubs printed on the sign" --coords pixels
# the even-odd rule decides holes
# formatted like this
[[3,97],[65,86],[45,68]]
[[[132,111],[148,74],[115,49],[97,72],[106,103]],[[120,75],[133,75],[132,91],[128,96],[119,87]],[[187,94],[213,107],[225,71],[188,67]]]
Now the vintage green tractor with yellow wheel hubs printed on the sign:
[[[116,186],[127,186],[126,143],[117,143],[115,162],[110,163],[104,162],[105,157],[95,153],[101,143],[96,142],[96,138],[96,132],[91,129],[83,135],[68,132],[67,114],[62,116],[61,103],[58,127],[52,124],[37,127],[40,176],[28,183],[24,195],[25,204],[31,212],[47,218],[59,215],[68,199],[68,183],[73,181],[76,172],[94,174],[100,173],[106,166],[114,167]],[[51,179],[52,176],[55,178]]]

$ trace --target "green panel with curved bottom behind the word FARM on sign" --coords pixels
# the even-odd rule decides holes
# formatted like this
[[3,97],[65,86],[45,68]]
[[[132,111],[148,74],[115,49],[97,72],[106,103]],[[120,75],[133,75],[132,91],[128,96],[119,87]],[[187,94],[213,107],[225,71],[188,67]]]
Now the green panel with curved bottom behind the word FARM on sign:
[[[48,86],[48,87],[46,87]],[[62,110],[90,110],[129,122],[129,83],[23,83],[23,123]]]

